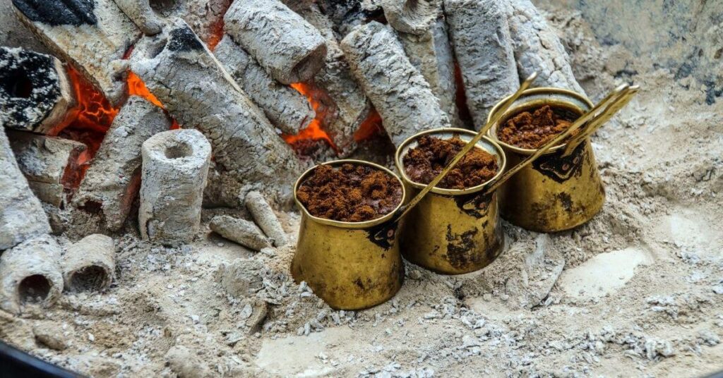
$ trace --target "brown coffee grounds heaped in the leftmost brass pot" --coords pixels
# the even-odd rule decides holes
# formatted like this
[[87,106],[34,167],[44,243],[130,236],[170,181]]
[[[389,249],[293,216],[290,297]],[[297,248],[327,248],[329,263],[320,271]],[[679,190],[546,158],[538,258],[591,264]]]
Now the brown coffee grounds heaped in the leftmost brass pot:
[[394,210],[402,200],[402,186],[370,166],[317,166],[299,186],[297,197],[315,217],[364,222]]

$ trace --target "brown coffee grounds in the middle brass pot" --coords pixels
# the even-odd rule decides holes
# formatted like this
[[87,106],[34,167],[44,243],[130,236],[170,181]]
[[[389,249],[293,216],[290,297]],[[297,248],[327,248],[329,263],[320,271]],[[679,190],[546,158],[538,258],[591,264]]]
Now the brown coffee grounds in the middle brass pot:
[[[440,139],[423,136],[417,146],[404,156],[404,170],[407,176],[419,184],[429,184],[442,169],[457,155],[464,145],[459,137]],[[497,159],[481,148],[473,148],[455,165],[437,187],[444,189],[465,189],[489,181],[497,173]]]

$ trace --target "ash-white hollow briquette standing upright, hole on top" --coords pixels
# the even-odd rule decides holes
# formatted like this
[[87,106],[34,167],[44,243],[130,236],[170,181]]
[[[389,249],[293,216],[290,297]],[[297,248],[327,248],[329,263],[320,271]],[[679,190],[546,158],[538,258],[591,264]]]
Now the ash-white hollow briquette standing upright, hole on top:
[[170,130],[143,142],[142,156],[141,236],[169,245],[191,241],[200,230],[210,143],[197,130]]

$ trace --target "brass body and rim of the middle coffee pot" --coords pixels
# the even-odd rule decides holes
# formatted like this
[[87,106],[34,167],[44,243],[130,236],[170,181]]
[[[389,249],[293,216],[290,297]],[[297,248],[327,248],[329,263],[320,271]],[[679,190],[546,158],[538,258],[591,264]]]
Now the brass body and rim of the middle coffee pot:
[[[403,157],[416,146],[422,135],[441,139],[458,136],[469,142],[476,133],[465,129],[435,129],[421,132],[403,142],[396,153],[395,163],[410,197],[424,189],[425,184],[411,181],[403,168]],[[497,194],[486,194],[489,182],[505,169],[502,148],[484,137],[476,144],[497,157],[499,170],[486,183],[468,189],[435,187],[412,208],[401,225],[403,256],[416,265],[444,274],[474,272],[497,258],[504,247],[500,225]]]

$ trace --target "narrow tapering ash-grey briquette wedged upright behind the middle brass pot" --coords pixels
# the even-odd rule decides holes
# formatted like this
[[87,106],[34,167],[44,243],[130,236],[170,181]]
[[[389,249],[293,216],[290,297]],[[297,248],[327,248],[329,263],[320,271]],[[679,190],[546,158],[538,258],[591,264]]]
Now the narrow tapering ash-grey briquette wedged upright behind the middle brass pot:
[[404,51],[429,83],[432,93],[440,101],[450,122],[459,126],[461,121],[455,103],[457,85],[454,77],[454,57],[447,34],[447,24],[440,17],[421,34],[397,33]]

